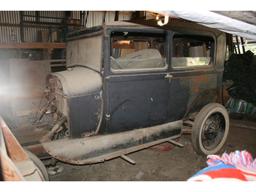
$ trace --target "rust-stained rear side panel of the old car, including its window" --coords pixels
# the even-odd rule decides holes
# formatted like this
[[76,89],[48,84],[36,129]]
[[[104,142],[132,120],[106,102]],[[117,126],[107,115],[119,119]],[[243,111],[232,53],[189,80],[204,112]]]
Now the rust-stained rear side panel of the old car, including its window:
[[211,33],[174,32],[170,41],[171,121],[216,102],[222,71],[215,70],[217,43]]

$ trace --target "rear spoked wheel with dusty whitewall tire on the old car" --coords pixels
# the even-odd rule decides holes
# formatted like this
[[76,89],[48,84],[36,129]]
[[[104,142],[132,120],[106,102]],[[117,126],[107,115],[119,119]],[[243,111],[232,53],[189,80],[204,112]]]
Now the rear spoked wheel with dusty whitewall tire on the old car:
[[192,145],[200,155],[219,152],[229,132],[227,110],[218,103],[204,106],[197,114],[192,126]]

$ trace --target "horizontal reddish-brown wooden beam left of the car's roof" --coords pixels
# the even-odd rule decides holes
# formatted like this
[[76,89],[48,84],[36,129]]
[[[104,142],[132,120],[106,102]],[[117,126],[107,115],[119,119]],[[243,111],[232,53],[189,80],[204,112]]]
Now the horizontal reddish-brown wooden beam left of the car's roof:
[[0,49],[64,49],[65,43],[12,43],[0,44]]

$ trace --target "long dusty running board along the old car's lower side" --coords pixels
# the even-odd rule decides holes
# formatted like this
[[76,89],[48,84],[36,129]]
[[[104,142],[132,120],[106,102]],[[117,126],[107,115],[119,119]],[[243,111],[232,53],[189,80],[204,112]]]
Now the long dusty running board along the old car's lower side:
[[181,127],[182,120],[115,134],[61,139],[42,143],[42,146],[60,161],[77,165],[92,164],[170,142],[181,136]]

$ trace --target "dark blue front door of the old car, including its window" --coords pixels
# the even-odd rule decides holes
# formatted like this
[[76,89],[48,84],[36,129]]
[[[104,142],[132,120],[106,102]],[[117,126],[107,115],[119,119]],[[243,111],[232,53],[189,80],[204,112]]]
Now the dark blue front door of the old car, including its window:
[[162,124],[169,119],[168,43],[164,31],[109,32],[105,65],[106,132]]

